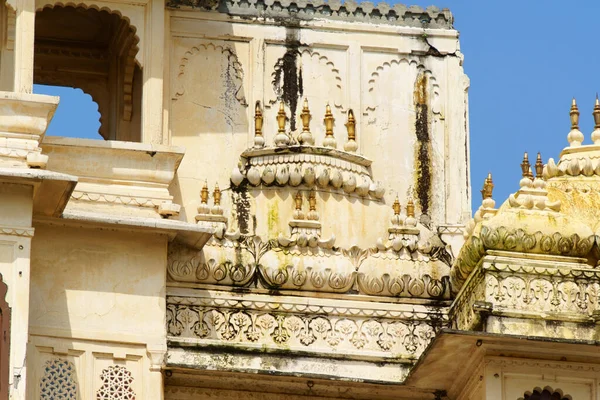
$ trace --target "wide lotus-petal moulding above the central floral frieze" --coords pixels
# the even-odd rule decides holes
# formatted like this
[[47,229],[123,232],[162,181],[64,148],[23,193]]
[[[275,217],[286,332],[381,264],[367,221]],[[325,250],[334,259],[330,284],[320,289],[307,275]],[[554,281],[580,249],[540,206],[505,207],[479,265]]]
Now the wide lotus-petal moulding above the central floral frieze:
[[411,252],[340,249],[302,233],[270,241],[238,234],[213,238],[201,253],[172,246],[167,272],[175,282],[448,299],[448,255],[433,237]]

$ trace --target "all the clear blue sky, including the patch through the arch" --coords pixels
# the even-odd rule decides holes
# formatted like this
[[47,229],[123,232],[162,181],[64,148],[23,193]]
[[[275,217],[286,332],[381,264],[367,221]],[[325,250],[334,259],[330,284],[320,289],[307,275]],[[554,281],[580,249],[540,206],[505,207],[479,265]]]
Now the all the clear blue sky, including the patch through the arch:
[[[592,108],[600,91],[599,0],[414,0],[450,8],[460,31],[464,68],[471,79],[473,209],[488,172],[494,199],[518,189],[523,152],[558,159],[567,145],[569,108],[576,97],[581,131],[590,143]],[[99,114],[73,89],[36,86],[61,96],[48,134],[89,137]],[[90,126],[90,121],[94,125]],[[85,133],[88,133],[87,135]],[[99,137],[96,135],[95,137]]]

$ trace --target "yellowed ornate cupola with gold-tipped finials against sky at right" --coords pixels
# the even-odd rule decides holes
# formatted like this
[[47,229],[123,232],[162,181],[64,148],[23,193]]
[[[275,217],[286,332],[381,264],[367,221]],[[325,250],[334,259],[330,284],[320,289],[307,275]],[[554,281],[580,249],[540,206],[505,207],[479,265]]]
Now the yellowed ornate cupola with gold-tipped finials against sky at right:
[[[579,110],[569,112],[568,147],[558,163],[533,166],[525,153],[519,190],[493,209],[491,177],[467,225],[466,244],[450,276],[459,329],[596,338],[600,237],[600,105],[593,109],[594,144],[584,144]],[[535,323],[531,321],[535,320]],[[556,326],[561,326],[557,330]]]

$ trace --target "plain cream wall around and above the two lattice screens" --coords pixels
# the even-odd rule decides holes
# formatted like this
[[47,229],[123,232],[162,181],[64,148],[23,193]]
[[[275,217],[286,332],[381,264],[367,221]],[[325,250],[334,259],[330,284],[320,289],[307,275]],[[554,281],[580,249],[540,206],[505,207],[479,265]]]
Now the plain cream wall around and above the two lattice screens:
[[158,234],[36,226],[28,398],[39,398],[50,360],[72,363],[82,399],[96,398],[110,367],[131,374],[136,398],[162,398],[166,242]]

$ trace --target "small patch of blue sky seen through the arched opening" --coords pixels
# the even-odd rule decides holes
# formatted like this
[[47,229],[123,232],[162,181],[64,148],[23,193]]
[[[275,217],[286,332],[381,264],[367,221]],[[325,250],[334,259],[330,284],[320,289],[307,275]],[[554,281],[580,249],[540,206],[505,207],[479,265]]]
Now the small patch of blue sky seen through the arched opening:
[[60,103],[48,127],[47,135],[104,140],[98,133],[98,104],[89,94],[81,89],[48,85],[34,85],[33,92],[60,96]]

